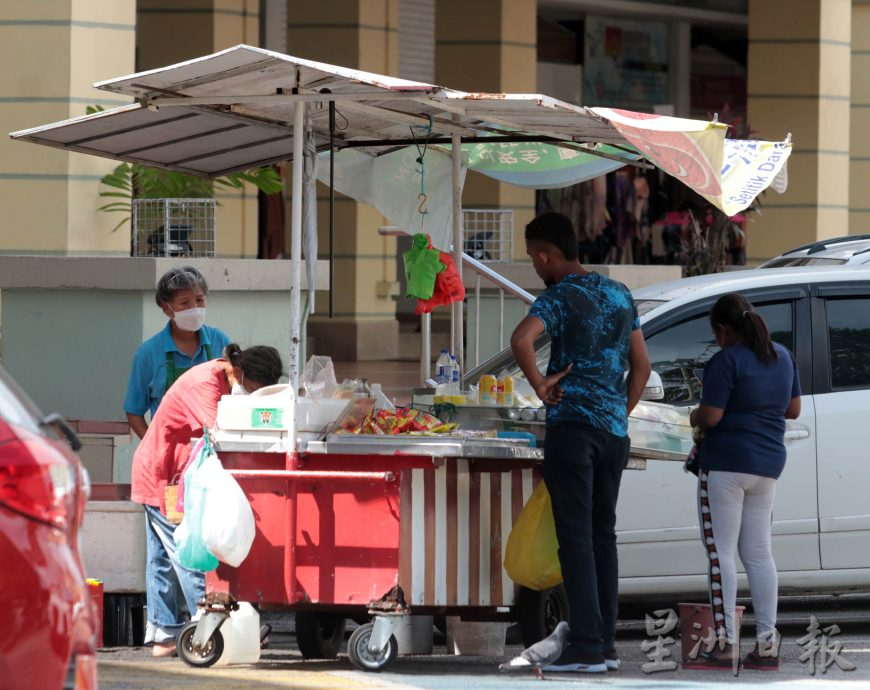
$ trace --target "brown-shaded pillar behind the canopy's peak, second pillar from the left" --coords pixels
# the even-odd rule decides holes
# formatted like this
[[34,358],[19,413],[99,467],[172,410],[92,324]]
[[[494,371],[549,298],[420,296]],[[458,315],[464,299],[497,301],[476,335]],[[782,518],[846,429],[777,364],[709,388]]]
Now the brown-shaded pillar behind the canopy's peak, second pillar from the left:
[[[260,44],[260,0],[139,0],[136,19],[137,71],[166,67],[239,43]],[[277,50],[283,52],[283,46]],[[257,189],[252,185],[238,190],[217,187],[215,198],[217,255],[256,258]]]

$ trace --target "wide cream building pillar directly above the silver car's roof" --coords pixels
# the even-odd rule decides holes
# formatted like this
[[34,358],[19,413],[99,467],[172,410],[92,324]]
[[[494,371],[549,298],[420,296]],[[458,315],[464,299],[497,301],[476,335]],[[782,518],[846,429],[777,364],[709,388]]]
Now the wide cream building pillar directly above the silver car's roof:
[[850,0],[750,0],[748,122],[791,132],[788,191],[761,197],[748,261],[845,234],[849,225]]

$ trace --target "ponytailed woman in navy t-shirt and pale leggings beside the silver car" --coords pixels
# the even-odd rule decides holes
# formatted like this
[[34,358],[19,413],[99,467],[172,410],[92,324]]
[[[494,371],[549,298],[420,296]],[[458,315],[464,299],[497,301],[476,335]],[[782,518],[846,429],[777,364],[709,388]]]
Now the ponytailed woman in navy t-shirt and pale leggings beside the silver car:
[[736,668],[739,553],[757,621],[757,643],[743,665],[775,670],[778,583],[770,528],[776,480],[785,466],[785,420],[796,419],[801,409],[797,365],[742,295],[720,297],[710,323],[722,349],[704,368],[701,404],[690,422],[704,431],[698,497],[718,644],[695,667]]

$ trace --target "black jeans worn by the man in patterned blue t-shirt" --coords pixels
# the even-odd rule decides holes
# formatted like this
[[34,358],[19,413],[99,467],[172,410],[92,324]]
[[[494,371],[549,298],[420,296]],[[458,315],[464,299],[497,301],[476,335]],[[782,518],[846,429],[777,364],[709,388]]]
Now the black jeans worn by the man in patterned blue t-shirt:
[[629,447],[627,436],[580,425],[550,427],[544,442],[544,481],[570,609],[568,642],[590,663],[613,649],[616,637],[616,499]]

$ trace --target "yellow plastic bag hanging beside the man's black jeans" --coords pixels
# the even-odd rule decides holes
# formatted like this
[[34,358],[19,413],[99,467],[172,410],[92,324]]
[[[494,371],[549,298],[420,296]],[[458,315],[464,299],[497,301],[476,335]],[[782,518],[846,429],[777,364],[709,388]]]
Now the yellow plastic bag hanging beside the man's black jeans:
[[511,580],[529,589],[549,589],[562,582],[556,523],[544,482],[517,516],[505,548],[504,567]]

